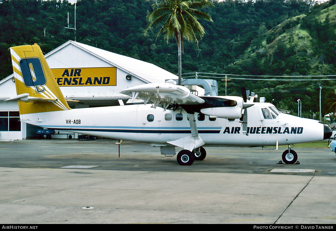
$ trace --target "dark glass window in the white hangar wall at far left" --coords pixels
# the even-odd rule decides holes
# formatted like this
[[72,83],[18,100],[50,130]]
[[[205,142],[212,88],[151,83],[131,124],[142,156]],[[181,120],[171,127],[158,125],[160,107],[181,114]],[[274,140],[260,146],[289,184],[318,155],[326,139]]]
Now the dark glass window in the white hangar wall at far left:
[[21,122],[19,112],[0,112],[0,131],[20,131]]

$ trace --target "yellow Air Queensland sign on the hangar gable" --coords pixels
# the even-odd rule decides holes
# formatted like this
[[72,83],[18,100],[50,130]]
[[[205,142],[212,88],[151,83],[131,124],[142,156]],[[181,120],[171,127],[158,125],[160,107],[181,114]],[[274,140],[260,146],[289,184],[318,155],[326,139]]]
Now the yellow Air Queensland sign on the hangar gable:
[[51,69],[58,86],[116,86],[117,68],[57,68]]

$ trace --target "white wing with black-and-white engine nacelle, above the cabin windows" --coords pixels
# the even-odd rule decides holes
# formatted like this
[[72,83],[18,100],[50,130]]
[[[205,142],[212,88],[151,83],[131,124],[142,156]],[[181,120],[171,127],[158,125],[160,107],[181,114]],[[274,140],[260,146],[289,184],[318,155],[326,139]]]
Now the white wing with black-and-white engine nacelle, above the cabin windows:
[[[244,90],[245,91],[245,90]],[[190,92],[187,87],[170,83],[148,83],[127,88],[121,93],[130,95],[132,101],[136,98],[151,103],[153,107],[163,109],[182,107],[188,114],[202,113],[212,117],[239,119],[243,115],[243,109],[254,105],[243,95],[242,97],[227,96],[198,97]]]

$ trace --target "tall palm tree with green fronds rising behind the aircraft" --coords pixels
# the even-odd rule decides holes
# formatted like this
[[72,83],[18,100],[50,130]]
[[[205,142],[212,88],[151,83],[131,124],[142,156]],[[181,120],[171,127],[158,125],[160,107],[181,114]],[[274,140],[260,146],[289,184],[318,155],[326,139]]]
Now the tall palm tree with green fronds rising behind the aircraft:
[[200,11],[203,7],[212,6],[208,0],[159,0],[152,5],[153,12],[147,15],[147,20],[151,27],[163,25],[157,35],[164,34],[167,39],[175,37],[178,46],[178,85],[182,84],[182,50],[183,39],[195,41],[198,45],[197,37],[202,38],[205,34],[199,19],[212,22],[210,14]]

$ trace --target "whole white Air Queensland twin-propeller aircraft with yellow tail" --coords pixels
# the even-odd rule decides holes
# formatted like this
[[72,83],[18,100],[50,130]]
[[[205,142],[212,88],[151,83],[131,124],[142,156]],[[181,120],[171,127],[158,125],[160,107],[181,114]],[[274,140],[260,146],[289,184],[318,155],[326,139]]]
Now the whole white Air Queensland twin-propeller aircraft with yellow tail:
[[290,145],[330,138],[317,120],[281,113],[270,103],[243,97],[198,97],[184,86],[149,83],[121,92],[144,104],[71,109],[38,45],[10,48],[20,119],[40,127],[160,146],[180,165],[203,160],[206,146],[288,145],[287,164],[297,161]]

